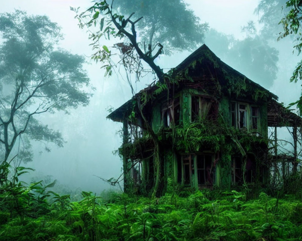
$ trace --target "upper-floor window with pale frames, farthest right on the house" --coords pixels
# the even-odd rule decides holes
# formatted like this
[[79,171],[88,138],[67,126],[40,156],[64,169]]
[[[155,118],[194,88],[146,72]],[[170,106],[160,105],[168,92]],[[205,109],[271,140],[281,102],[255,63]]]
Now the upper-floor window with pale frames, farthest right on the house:
[[258,129],[259,108],[247,103],[231,102],[231,126],[239,129]]

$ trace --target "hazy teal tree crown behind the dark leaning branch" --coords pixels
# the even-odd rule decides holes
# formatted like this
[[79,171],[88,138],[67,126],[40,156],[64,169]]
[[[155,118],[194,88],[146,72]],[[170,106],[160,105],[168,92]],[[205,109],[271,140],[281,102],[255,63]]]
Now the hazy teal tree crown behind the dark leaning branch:
[[136,24],[140,42],[146,46],[161,43],[165,54],[173,50],[194,50],[208,29],[208,24],[201,23],[182,0],[115,0],[113,8],[126,16],[133,12],[137,18],[143,16]]

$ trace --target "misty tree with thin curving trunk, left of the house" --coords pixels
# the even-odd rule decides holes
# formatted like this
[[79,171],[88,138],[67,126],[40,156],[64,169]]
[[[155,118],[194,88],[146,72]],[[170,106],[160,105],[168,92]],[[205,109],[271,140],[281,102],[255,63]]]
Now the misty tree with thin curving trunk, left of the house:
[[8,161],[17,142],[24,145],[14,155],[30,161],[26,140],[64,143],[37,116],[87,105],[91,86],[84,58],[57,47],[63,36],[48,17],[18,10],[1,14],[0,34],[0,164]]

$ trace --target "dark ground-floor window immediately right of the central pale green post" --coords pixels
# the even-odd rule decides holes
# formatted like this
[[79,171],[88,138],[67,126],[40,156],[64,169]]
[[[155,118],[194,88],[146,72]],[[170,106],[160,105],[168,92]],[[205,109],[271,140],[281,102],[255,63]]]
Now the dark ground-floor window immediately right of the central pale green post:
[[198,185],[213,183],[211,174],[212,155],[197,155],[197,178]]

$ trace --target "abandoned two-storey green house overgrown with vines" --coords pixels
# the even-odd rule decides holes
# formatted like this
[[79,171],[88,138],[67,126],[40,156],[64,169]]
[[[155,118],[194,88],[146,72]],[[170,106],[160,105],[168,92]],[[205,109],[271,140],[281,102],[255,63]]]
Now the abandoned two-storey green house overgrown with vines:
[[206,45],[169,73],[108,115],[123,123],[124,190],[268,183],[268,127],[301,118]]

